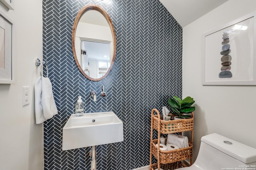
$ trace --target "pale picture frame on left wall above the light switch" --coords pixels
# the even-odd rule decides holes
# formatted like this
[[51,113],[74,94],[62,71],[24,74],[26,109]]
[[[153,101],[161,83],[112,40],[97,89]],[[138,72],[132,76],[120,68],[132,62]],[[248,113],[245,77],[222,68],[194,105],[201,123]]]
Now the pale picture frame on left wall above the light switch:
[[0,84],[15,84],[12,29],[13,21],[0,11]]

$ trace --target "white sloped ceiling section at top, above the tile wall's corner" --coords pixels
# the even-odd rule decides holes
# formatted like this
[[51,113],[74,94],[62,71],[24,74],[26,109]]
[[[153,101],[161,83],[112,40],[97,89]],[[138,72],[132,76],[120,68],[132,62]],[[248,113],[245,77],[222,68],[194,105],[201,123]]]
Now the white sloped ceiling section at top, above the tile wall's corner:
[[204,16],[226,1],[228,0],[160,0],[182,27]]

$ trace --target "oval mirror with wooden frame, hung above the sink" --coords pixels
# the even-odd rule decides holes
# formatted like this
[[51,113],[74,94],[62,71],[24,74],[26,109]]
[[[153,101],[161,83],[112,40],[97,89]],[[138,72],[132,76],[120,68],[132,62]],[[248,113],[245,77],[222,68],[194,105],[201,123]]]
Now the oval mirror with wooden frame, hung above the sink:
[[110,17],[97,5],[86,5],[74,21],[72,50],[79,70],[92,80],[105,78],[116,57],[116,35]]

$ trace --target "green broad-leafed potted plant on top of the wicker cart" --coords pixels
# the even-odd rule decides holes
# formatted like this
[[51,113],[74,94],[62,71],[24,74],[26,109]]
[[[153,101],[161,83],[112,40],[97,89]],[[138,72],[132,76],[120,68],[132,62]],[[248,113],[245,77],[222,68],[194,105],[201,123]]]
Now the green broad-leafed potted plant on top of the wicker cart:
[[[196,109],[196,107],[191,106],[194,104],[194,99],[190,96],[184,98],[183,100],[178,98],[177,96],[172,96],[175,100],[170,98],[168,100],[168,104],[171,106],[172,110],[174,111],[174,115],[176,115],[176,119],[186,119],[190,118],[190,115],[183,115],[183,113],[191,113]],[[175,119],[174,117],[174,119]]]

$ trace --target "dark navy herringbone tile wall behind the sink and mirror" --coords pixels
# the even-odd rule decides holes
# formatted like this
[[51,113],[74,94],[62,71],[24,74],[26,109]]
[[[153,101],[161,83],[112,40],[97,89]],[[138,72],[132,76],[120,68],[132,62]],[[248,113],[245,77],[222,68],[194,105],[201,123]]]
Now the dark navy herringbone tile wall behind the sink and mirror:
[[[74,18],[86,4],[104,8],[116,31],[114,66],[98,82],[82,76],[72,55]],[[90,147],[62,151],[62,128],[78,95],[86,112],[112,110],[124,123],[123,142],[96,147],[97,169],[148,165],[151,110],[182,92],[182,28],[164,6],[158,0],[43,0],[43,58],[58,107],[44,123],[44,169],[90,169]],[[99,96],[102,85],[106,98]],[[97,102],[89,98],[91,90],[98,92]]]

